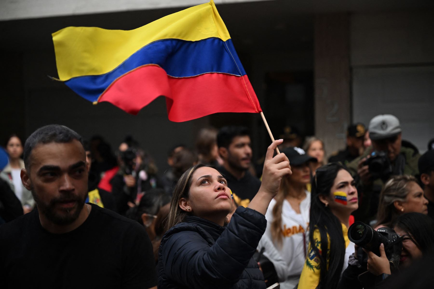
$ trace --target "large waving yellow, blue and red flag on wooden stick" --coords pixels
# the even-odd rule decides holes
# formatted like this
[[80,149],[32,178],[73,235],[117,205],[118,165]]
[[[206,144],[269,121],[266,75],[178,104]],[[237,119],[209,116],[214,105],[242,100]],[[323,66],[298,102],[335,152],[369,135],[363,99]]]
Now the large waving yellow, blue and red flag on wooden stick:
[[94,104],[137,114],[163,95],[176,122],[262,111],[212,0],[134,30],[67,27],[53,42],[59,79]]

